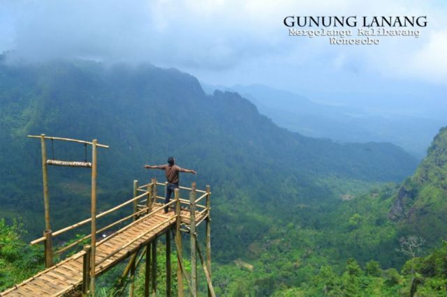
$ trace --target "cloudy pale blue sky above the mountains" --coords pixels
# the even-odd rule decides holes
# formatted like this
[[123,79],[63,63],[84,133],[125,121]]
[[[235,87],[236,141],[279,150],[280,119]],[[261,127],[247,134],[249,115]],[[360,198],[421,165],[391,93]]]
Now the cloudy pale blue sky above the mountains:
[[[288,36],[288,15],[426,15],[428,25],[420,38],[330,45]],[[0,52],[149,62],[207,84],[265,84],[335,105],[447,106],[446,15],[444,0],[0,0]]]

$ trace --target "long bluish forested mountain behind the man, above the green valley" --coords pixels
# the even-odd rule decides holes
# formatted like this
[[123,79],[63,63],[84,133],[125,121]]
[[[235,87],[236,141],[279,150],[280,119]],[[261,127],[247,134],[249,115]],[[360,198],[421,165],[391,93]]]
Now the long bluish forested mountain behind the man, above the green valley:
[[[393,144],[337,144],[279,128],[237,93],[207,96],[195,77],[175,69],[0,63],[2,216],[43,208],[40,144],[26,137],[41,133],[110,145],[98,157],[100,201],[122,199],[128,192],[119,190],[130,189],[134,178],[163,178],[142,165],[166,162],[169,155],[198,171],[194,178],[183,176],[183,183],[210,183],[221,201],[237,191],[252,202],[288,201],[291,195],[318,201],[331,192],[316,184],[316,176],[401,181],[416,168],[416,160]],[[82,145],[47,145],[50,158],[53,150],[62,160],[85,158]],[[50,169],[56,213],[59,206],[81,208],[88,201],[88,178],[83,169]]]

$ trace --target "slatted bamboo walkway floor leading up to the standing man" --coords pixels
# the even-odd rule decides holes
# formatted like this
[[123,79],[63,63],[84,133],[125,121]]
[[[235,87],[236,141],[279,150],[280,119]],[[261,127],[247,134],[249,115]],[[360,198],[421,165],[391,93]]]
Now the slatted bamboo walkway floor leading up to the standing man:
[[[155,207],[161,204],[154,204]],[[189,210],[182,210],[182,222],[189,224]],[[196,221],[205,220],[205,213],[196,211]],[[123,261],[129,255],[145,247],[154,238],[165,233],[176,224],[174,211],[160,210],[139,218],[129,228],[110,234],[96,243],[96,271],[101,275]],[[149,231],[151,230],[152,231]],[[149,232],[148,232],[149,231]],[[135,238],[138,238],[135,240]],[[115,254],[113,252],[119,250]],[[112,254],[112,256],[110,256]],[[75,294],[82,285],[82,252],[45,269],[34,277],[3,291],[0,296],[63,296]]]

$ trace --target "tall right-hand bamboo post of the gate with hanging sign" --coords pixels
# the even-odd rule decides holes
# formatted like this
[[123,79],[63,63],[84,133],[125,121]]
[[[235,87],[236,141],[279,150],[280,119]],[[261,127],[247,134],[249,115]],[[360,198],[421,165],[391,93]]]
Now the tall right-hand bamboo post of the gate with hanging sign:
[[93,139],[91,145],[91,264],[90,264],[90,294],[95,296],[95,255],[96,255],[96,144]]

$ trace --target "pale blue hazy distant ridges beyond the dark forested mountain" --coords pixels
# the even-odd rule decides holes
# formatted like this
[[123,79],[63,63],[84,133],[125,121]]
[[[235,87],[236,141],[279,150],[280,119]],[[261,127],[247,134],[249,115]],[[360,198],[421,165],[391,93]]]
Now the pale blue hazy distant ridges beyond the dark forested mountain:
[[[434,135],[446,125],[445,105],[436,104],[435,100],[420,104],[411,97],[406,100],[401,96],[395,101],[381,100],[383,105],[379,105],[374,98],[365,95],[359,96],[357,102],[352,100],[353,94],[327,93],[328,99],[335,98],[341,103],[330,105],[330,100],[316,103],[298,94],[263,85],[202,85],[207,93],[215,89],[236,91],[251,100],[259,112],[274,123],[302,135],[338,142],[392,142],[417,158],[425,157]],[[373,104],[367,106],[367,100]]]

